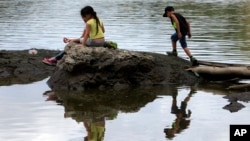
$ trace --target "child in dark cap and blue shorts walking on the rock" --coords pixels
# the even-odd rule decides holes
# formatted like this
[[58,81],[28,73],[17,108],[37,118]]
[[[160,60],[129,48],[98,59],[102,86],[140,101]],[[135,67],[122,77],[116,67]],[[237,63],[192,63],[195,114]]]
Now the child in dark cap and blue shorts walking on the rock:
[[189,22],[181,14],[175,13],[174,8],[172,6],[167,6],[165,8],[165,13],[163,14],[163,17],[170,18],[171,23],[176,31],[176,33],[174,33],[171,36],[173,51],[167,52],[167,54],[177,56],[176,42],[179,40],[183,50],[185,51],[187,56],[190,58],[192,65],[197,66],[198,61],[192,56],[190,50],[188,49],[186,37],[185,37],[186,35],[188,35],[188,37],[191,38]]

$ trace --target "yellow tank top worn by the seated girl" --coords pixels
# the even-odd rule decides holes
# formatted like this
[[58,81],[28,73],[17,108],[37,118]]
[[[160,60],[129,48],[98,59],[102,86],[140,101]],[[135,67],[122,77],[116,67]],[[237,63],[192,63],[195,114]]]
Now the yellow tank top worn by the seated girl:
[[[100,19],[99,19],[99,21],[100,21],[100,24],[102,25],[102,21]],[[100,25],[98,25],[98,32],[97,32],[95,19],[88,20],[87,24],[90,25],[90,33],[89,33],[90,39],[98,39],[98,38],[104,37],[104,33],[103,33],[102,27]]]

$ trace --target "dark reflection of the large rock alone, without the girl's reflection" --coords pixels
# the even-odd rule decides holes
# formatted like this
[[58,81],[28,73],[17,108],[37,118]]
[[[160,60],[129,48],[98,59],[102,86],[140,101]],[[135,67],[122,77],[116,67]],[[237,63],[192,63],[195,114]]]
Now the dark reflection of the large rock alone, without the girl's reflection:
[[118,112],[137,112],[152,102],[156,88],[136,88],[126,90],[91,90],[84,93],[56,92],[63,101],[65,116],[80,122],[84,119],[114,119]]

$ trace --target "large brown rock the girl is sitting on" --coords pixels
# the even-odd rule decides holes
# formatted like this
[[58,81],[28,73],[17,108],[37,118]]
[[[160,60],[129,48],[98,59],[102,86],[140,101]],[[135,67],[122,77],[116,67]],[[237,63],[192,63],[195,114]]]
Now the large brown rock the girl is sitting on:
[[53,90],[190,84],[198,80],[183,69],[190,63],[177,57],[121,49],[84,48],[74,43],[68,44],[65,50],[67,54],[48,81]]

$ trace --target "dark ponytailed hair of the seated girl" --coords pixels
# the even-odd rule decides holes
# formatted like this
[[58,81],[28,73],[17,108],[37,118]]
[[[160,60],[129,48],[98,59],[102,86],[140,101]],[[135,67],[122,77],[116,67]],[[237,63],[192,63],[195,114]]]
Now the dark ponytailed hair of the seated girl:
[[82,8],[81,12],[80,12],[82,17],[85,17],[86,15],[90,14],[94,17],[94,19],[96,20],[96,34],[98,33],[98,25],[100,24],[100,20],[96,15],[96,12],[94,11],[94,9],[91,6],[85,6]]

